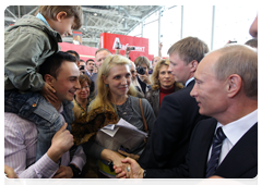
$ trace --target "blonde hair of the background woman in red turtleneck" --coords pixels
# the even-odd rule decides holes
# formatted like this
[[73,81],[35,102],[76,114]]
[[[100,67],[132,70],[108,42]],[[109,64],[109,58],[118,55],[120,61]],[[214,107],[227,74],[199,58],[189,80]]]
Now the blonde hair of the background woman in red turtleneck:
[[[160,71],[162,66],[164,66],[164,65],[169,66],[169,64],[170,64],[170,62],[169,62],[168,59],[162,59],[156,63],[156,65],[153,70],[153,73],[151,75],[151,82],[152,82],[152,89],[153,90],[157,90],[157,89],[160,88],[160,82],[159,82],[158,77],[159,77],[159,71]],[[177,83],[177,82],[175,82],[175,86],[177,86],[179,88],[183,88],[183,86],[180,83]]]

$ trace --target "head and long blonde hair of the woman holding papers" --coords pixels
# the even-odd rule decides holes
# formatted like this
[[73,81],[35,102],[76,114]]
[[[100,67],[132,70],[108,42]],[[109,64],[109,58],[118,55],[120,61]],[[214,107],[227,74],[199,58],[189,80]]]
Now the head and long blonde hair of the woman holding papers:
[[130,60],[122,55],[108,55],[99,67],[97,96],[91,110],[104,107],[115,110],[114,104],[126,102],[128,95],[135,96],[131,82]]

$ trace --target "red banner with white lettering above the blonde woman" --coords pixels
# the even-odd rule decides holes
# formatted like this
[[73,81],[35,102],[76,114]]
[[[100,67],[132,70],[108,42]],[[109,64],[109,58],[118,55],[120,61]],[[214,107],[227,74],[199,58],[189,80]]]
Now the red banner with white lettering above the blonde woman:
[[118,34],[100,34],[100,47],[108,49],[112,54],[116,52],[117,44],[120,46],[120,54],[124,55],[124,50],[127,47],[134,47],[134,50],[131,50],[129,57],[134,61],[138,57],[144,55],[152,60],[153,54],[148,54],[148,39],[142,37],[132,37],[127,35]]

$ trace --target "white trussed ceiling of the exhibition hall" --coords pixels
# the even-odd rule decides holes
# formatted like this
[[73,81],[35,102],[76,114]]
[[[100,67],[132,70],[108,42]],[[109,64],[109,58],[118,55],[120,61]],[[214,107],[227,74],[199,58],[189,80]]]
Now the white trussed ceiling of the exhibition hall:
[[[4,5],[4,27],[14,24],[25,14],[34,15],[38,5]],[[100,33],[128,35],[135,26],[162,5],[82,5],[84,22],[82,41],[85,46],[99,47]],[[72,42],[72,36],[63,41]]]

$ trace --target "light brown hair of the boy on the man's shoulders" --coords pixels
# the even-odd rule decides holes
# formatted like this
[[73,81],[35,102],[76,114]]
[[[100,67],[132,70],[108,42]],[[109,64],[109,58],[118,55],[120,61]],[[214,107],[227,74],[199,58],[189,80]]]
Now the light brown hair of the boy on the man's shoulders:
[[40,5],[35,14],[40,13],[47,18],[55,20],[59,12],[66,12],[67,17],[74,16],[73,29],[79,29],[83,23],[83,11],[81,5]]

